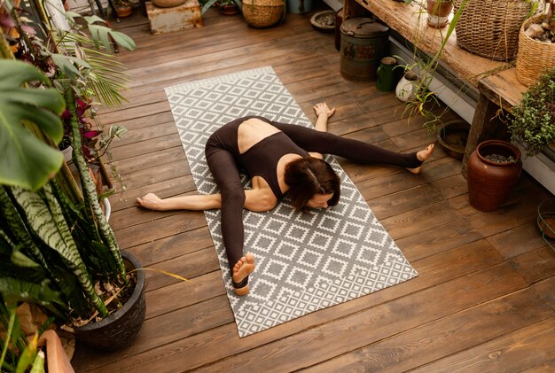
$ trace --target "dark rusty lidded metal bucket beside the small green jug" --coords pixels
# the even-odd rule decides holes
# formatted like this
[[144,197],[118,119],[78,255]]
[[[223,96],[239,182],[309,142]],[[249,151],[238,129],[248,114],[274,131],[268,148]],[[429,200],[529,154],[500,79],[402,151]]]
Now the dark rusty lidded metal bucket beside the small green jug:
[[377,79],[379,60],[388,54],[389,27],[370,18],[354,18],[341,24],[341,76],[351,82]]

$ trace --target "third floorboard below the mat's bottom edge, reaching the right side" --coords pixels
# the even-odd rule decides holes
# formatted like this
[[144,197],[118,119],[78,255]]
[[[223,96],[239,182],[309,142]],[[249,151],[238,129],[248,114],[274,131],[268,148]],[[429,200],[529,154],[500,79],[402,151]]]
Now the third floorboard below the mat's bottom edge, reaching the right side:
[[527,288],[324,361],[307,372],[407,371],[553,315],[555,311]]

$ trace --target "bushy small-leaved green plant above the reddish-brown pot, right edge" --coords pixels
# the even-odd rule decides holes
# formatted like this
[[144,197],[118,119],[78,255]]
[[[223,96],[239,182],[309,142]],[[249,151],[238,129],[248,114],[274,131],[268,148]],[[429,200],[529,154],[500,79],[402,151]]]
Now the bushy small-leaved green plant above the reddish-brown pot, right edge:
[[527,156],[534,156],[555,142],[555,67],[540,75],[512,107],[508,122],[512,141],[522,144]]

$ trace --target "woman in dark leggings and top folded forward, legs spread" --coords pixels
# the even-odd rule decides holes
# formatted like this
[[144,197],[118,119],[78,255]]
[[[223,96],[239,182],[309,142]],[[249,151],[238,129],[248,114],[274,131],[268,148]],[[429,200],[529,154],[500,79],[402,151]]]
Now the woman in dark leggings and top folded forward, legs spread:
[[[238,295],[248,293],[248,276],[254,271],[253,255],[243,256],[243,208],[269,211],[285,192],[289,192],[297,210],[337,205],[340,178],[323,160],[323,153],[362,163],[406,167],[418,174],[434,151],[431,144],[420,152],[402,154],[329,134],[327,121],[335,108],[320,103],[313,109],[317,114],[315,129],[250,116],[216,130],[207,141],[206,157],[220,194],[160,199],[149,193],[137,198],[138,206],[160,211],[221,208],[223,245]],[[252,177],[250,190],[243,190],[239,165]]]

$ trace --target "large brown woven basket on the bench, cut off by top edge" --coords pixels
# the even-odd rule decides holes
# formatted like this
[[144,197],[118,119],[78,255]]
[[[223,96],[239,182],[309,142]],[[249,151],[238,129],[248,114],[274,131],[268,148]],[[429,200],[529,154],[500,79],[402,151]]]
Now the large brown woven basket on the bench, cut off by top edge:
[[[456,0],[455,12],[461,2]],[[515,58],[520,25],[530,9],[524,0],[468,0],[455,27],[457,44],[489,59]]]

